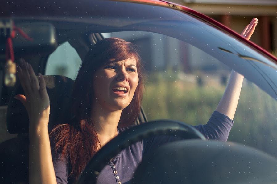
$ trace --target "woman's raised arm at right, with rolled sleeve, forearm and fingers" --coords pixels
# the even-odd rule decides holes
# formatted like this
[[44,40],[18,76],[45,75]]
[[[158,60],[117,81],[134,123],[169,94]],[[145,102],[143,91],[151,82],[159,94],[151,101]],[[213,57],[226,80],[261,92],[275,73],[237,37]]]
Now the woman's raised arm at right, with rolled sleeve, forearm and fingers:
[[[242,36],[250,39],[257,25],[257,19],[253,18],[242,31]],[[234,114],[237,109],[238,99],[242,88],[244,76],[232,70],[225,92],[215,110],[205,125],[194,126],[208,140],[227,141],[229,132],[233,126]]]

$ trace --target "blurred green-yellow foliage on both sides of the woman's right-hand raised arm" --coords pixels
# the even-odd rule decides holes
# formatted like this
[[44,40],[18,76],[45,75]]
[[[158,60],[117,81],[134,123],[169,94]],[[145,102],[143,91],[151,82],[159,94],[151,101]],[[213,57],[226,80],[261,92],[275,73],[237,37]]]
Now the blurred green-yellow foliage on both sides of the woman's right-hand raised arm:
[[[148,120],[173,119],[205,124],[220,101],[225,86],[198,86],[178,79],[177,72],[148,76],[143,108]],[[229,141],[277,155],[277,103],[256,85],[244,82]]]

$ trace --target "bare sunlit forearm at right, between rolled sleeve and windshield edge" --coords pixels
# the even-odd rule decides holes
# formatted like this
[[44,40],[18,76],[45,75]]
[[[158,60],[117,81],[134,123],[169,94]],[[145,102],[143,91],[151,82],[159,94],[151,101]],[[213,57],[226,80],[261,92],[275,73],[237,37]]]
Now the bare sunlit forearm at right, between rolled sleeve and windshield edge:
[[216,111],[227,115],[230,119],[234,118],[238,106],[243,78],[243,75],[232,70],[225,92],[216,108]]

